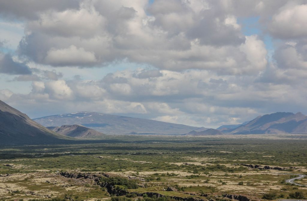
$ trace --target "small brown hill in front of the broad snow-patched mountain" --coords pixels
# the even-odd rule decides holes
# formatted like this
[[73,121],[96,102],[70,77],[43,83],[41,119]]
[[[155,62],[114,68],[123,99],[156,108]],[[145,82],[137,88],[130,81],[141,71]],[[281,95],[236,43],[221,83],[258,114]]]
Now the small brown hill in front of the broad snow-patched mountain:
[[64,136],[70,136],[82,139],[95,138],[97,136],[104,135],[101,132],[95,131],[91,128],[86,128],[82,125],[63,125],[60,127],[47,127],[47,128]]

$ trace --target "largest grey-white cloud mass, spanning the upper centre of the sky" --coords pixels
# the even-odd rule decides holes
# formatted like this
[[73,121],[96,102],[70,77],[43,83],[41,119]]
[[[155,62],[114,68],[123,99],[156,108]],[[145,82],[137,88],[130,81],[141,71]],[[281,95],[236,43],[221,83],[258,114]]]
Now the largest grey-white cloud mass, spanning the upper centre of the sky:
[[220,6],[196,0],[83,1],[77,9],[49,10],[28,20],[18,53],[52,66],[103,67],[125,60],[172,71],[262,70],[263,54],[257,65],[247,56],[253,48],[248,43],[261,39],[246,41],[236,15]]

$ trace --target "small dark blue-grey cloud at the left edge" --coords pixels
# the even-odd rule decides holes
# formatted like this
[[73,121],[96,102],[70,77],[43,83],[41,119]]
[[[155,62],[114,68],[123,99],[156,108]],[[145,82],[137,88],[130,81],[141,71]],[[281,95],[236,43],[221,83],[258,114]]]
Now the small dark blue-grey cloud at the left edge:
[[26,75],[31,74],[31,69],[24,63],[14,61],[10,54],[0,53],[0,73]]

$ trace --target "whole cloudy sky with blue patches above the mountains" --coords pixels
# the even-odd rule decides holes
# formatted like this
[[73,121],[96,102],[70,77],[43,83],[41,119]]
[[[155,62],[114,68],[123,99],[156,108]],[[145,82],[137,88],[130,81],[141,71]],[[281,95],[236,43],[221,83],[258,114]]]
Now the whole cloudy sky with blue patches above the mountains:
[[307,0],[0,0],[0,100],[217,128],[307,114]]

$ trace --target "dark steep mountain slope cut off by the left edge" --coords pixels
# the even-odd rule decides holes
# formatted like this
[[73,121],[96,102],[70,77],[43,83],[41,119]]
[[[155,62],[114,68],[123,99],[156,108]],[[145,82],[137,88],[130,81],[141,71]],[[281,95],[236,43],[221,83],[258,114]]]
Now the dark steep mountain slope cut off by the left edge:
[[56,143],[69,137],[50,131],[0,101],[0,144]]

